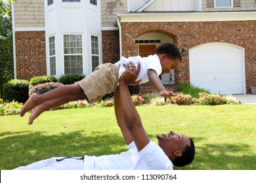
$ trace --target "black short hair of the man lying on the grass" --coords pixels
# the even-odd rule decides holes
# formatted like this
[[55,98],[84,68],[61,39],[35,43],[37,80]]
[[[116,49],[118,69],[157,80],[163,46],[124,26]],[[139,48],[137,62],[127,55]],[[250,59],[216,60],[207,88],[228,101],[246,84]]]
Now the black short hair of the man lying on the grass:
[[195,149],[194,141],[192,139],[190,139],[190,144],[191,144],[191,146],[186,145],[184,150],[182,150],[182,156],[177,157],[173,161],[173,165],[175,165],[177,167],[183,167],[193,161],[195,154],[196,154],[196,149]]

